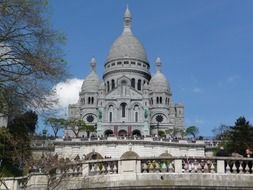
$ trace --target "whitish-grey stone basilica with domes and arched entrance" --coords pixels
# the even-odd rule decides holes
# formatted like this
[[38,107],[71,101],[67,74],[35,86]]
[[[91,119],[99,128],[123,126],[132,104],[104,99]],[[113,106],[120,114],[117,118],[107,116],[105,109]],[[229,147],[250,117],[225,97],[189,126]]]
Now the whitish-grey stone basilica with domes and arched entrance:
[[[69,105],[70,118],[95,125],[98,136],[149,136],[167,129],[183,129],[184,107],[174,104],[168,81],[156,59],[151,76],[143,45],[131,31],[131,13],[124,14],[124,29],[115,40],[105,62],[103,80],[91,60],[76,104]],[[69,130],[65,135],[72,136]]]

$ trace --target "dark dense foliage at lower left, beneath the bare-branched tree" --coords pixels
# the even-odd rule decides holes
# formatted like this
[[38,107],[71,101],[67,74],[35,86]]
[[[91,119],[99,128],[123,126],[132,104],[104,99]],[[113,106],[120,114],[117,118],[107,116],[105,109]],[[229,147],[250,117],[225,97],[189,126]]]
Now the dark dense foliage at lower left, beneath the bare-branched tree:
[[4,176],[20,176],[31,159],[31,137],[37,125],[37,114],[27,111],[0,128],[0,167]]

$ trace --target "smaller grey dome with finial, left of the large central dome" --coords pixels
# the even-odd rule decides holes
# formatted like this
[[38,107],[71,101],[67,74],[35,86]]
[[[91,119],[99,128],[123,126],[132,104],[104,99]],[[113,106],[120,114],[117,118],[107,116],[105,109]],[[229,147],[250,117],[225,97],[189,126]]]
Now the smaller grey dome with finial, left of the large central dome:
[[84,79],[82,84],[82,91],[86,92],[97,92],[99,89],[99,77],[96,73],[96,60],[95,58],[91,59],[91,73]]

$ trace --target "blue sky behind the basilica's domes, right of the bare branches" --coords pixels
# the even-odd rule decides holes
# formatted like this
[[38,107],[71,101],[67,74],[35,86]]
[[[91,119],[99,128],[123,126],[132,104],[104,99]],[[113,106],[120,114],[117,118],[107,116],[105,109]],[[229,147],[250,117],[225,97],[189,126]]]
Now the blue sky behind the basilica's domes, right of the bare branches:
[[66,35],[72,78],[87,76],[92,56],[102,76],[126,4],[151,73],[161,57],[174,102],[185,105],[186,127],[210,136],[239,116],[253,122],[252,0],[52,0],[50,20]]

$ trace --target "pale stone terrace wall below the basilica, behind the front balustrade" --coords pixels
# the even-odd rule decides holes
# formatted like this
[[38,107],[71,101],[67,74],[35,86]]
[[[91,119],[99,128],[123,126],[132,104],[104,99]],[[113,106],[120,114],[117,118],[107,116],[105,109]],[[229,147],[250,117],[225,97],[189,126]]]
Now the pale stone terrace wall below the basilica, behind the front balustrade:
[[203,143],[179,143],[145,140],[105,140],[105,141],[72,141],[58,140],[55,142],[55,153],[59,157],[74,159],[76,155],[82,157],[90,153],[98,153],[102,157],[118,159],[125,152],[132,150],[139,157],[159,157],[161,154],[172,156],[205,156]]

